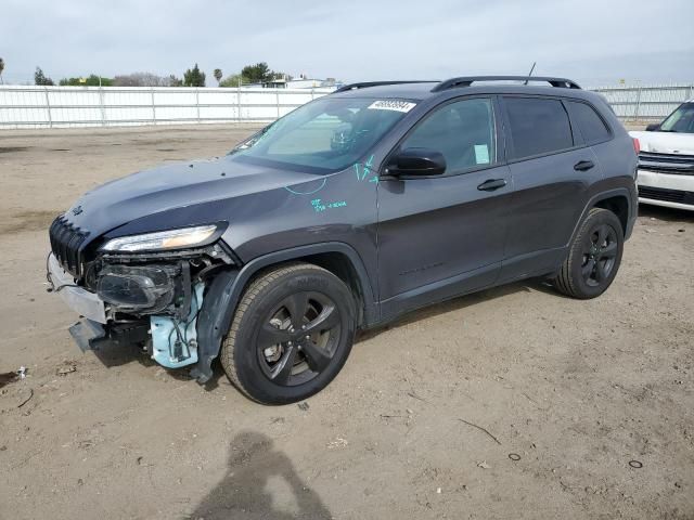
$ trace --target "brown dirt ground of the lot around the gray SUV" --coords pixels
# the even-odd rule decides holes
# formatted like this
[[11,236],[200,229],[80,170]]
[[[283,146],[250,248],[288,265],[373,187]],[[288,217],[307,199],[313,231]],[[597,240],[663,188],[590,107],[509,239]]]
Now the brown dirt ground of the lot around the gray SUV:
[[694,518],[694,213],[642,207],[595,300],[528,282],[362,335],[308,407],[81,354],[51,219],[249,131],[0,134],[0,373],[27,367],[0,389],[0,518]]

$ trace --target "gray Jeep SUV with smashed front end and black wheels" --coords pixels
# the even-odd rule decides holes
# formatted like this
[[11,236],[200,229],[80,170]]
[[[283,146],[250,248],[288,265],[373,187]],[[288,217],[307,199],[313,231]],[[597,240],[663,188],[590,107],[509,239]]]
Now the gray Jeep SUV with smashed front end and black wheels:
[[[528,83],[534,84],[528,84]],[[547,86],[537,86],[542,82]],[[637,218],[637,151],[562,78],[355,83],[215,160],[110,182],[50,229],[82,348],[303,400],[357,329],[528,277],[594,298]]]

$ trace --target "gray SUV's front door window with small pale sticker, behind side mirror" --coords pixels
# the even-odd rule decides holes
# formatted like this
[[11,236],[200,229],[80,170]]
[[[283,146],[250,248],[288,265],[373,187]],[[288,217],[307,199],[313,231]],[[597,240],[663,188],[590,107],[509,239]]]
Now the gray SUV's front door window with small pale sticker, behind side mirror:
[[437,108],[414,129],[400,147],[440,152],[446,158],[446,173],[496,162],[491,100],[464,100]]

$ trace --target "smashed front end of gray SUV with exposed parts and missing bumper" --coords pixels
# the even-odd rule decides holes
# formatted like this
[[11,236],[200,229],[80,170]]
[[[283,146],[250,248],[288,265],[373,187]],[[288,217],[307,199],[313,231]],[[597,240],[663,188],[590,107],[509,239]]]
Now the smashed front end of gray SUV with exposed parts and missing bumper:
[[210,281],[239,265],[219,240],[226,224],[104,239],[78,250],[70,250],[77,240],[54,227],[48,280],[85,317],[70,327],[82,350],[104,341],[138,344],[167,368],[198,364],[197,379],[209,378],[211,360],[198,363],[197,322]]

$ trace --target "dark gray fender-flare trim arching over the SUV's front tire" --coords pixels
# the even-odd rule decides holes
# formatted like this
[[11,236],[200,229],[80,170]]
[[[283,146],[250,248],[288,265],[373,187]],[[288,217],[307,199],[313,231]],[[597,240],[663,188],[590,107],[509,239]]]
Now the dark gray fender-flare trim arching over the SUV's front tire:
[[274,251],[253,259],[241,270],[226,270],[215,276],[207,289],[197,320],[198,361],[191,370],[191,376],[201,385],[211,378],[211,362],[219,355],[221,340],[231,326],[243,289],[259,270],[324,252],[339,252],[349,259],[363,296],[363,320],[360,325],[368,326],[377,322],[378,306],[374,301],[369,275],[361,257],[351,246],[342,242],[325,242]]

